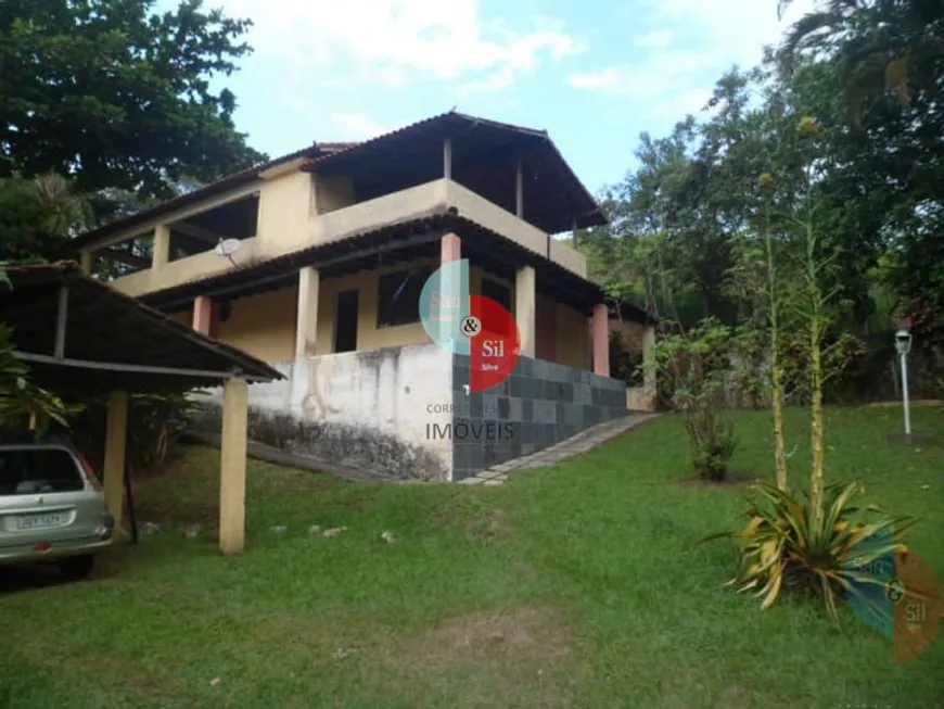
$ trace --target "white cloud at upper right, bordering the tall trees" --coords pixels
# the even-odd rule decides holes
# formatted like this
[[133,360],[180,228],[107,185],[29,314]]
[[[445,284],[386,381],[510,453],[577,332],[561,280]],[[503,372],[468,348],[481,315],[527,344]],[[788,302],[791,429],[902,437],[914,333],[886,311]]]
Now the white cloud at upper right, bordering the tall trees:
[[636,62],[570,74],[567,83],[645,101],[653,114],[694,113],[722,73],[732,64],[755,65],[764,45],[776,43],[814,1],[795,0],[781,21],[773,0],[650,0],[649,17],[661,28],[635,38],[647,53]]

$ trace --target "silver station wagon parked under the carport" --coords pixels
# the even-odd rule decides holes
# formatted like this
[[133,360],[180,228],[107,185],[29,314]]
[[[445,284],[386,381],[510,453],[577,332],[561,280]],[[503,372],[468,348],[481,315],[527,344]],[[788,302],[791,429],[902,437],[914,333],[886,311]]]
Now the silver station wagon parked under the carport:
[[101,482],[67,438],[0,433],[0,565],[52,562],[77,581],[114,527]]

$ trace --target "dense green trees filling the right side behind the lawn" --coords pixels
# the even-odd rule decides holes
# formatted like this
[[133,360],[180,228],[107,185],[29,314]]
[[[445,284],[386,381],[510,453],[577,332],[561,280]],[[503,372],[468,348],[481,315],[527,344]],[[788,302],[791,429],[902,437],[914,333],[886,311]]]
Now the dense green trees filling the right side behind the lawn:
[[944,3],[820,5],[760,66],[720,77],[702,119],[641,136],[637,167],[604,193],[612,226],[579,237],[612,295],[676,327],[749,317],[758,291],[731,276],[751,271],[765,227],[790,229],[777,213],[802,195],[795,127],[808,118],[820,248],[833,254],[820,279],[841,312],[831,332],[885,331],[902,313],[931,341],[944,324]]

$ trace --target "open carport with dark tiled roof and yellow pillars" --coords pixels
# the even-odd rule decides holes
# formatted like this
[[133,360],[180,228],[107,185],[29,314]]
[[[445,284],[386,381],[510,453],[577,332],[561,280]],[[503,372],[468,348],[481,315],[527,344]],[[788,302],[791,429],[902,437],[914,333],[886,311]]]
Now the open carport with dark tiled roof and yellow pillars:
[[93,278],[78,264],[5,267],[0,322],[34,382],[74,401],[107,395],[104,489],[122,524],[128,397],[222,385],[219,547],[245,544],[248,384],[282,379],[266,363],[205,337]]

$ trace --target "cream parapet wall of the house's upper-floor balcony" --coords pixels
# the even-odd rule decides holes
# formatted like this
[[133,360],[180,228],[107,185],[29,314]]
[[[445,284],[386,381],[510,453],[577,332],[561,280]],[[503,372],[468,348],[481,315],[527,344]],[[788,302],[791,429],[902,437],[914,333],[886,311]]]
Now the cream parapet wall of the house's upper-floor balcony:
[[[436,179],[350,204],[352,195],[339,201],[337,190],[328,181],[324,187],[330,189],[319,192],[316,189],[320,187],[319,179],[298,172],[271,176],[269,179],[264,176],[257,183],[243,188],[230,202],[220,198],[220,204],[207,205],[242,215],[242,223],[233,225],[229,221],[226,228],[227,236],[239,232],[241,241],[239,250],[231,257],[218,255],[212,248],[194,253],[200,244],[208,245],[213,241],[211,237],[215,232],[209,228],[212,220],[204,219],[204,223],[196,224],[202,216],[200,214],[164,216],[163,221],[169,226],[155,224],[152,227],[157,230],[155,233],[164,228],[169,244],[178,239],[188,244],[190,251],[168,249],[166,261],[157,259],[156,266],[146,267],[151,262],[148,250],[142,249],[133,258],[139,266],[145,267],[126,275],[116,274],[112,284],[129,295],[140,296],[235,269],[252,268],[279,256],[342,241],[393,224],[441,214],[449,207],[576,276],[586,277],[586,258],[583,254],[457,181]],[[341,206],[345,202],[347,205]],[[250,206],[246,206],[247,203]],[[208,211],[204,208],[204,212]],[[187,240],[177,235],[183,235]],[[112,248],[109,255],[114,256],[117,251]]]

